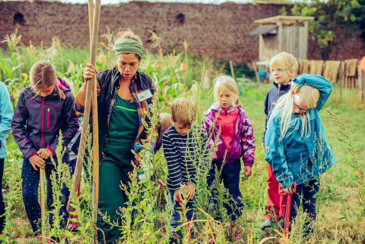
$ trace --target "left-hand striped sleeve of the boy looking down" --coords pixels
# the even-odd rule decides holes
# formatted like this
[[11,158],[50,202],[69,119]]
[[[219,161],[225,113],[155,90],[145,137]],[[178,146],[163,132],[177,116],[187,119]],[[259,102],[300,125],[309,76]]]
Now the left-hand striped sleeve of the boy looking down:
[[164,155],[167,161],[168,179],[171,181],[171,190],[180,189],[182,183],[180,161],[176,154],[175,146],[172,145],[169,136],[166,134],[162,136],[162,146],[164,147]]

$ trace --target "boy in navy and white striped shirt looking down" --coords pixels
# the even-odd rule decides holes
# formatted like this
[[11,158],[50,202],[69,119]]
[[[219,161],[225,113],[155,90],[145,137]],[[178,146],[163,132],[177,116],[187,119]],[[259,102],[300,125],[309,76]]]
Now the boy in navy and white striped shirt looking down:
[[[195,104],[185,98],[176,98],[171,104],[173,126],[167,129],[162,136],[164,155],[167,160],[168,176],[166,187],[169,190],[169,202],[171,207],[171,227],[170,232],[181,224],[181,208],[177,202],[177,197],[188,200],[184,209],[187,211],[187,219],[195,219],[194,198],[196,184],[196,163],[200,155],[208,156],[209,147],[207,144],[207,134],[204,129],[194,125],[196,118]],[[193,138],[193,131],[200,133],[201,145],[197,144]],[[199,131],[199,132],[196,132]],[[194,134],[195,134],[194,133]],[[195,134],[196,135],[196,134]],[[195,136],[196,137],[196,136]],[[194,140],[195,139],[195,140]],[[186,185],[186,191],[181,191],[181,185]],[[177,231],[174,237],[170,237],[170,244],[181,243],[181,230]],[[177,236],[177,237],[176,237]],[[180,240],[180,242],[178,241]]]

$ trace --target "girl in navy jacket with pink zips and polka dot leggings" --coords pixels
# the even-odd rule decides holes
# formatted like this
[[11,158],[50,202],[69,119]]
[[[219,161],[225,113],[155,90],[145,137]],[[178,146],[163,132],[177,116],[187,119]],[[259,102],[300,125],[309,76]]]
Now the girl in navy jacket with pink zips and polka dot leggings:
[[[51,157],[55,157],[59,130],[63,145],[67,146],[77,133],[78,118],[73,110],[74,98],[66,81],[58,78],[56,70],[46,61],[36,62],[30,70],[31,85],[24,88],[11,125],[14,138],[23,153],[22,194],[24,207],[35,235],[41,226],[41,207],[38,203],[38,168],[45,169],[47,207],[51,210],[53,196],[50,176],[55,170]],[[63,158],[69,161],[69,152]],[[52,216],[49,214],[52,224]],[[41,237],[37,236],[41,241]]]

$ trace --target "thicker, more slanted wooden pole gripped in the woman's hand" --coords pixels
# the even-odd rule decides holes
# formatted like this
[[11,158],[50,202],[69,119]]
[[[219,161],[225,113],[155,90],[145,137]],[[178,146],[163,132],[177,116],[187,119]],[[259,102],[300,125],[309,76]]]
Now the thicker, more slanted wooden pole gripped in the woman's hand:
[[[99,19],[100,19],[100,5],[101,0],[96,0],[94,7],[94,20],[93,20],[93,31],[92,31],[92,39],[91,39],[91,47],[90,47],[90,63],[95,67],[95,59],[96,59],[96,45],[97,45],[97,37],[99,33]],[[93,81],[94,79],[88,79],[86,81],[86,97],[85,97],[85,108],[84,108],[84,121],[81,131],[81,140],[78,148],[77,161],[75,167],[75,173],[73,175],[73,186],[74,191],[70,192],[70,194],[77,194],[78,186],[80,184],[81,179],[81,171],[82,164],[84,161],[84,151],[85,151],[85,143],[86,143],[86,130],[88,128],[90,122],[90,110],[91,110],[91,100],[92,100],[92,90],[93,90]],[[67,211],[72,211],[73,207],[70,206],[70,202],[67,205]]]

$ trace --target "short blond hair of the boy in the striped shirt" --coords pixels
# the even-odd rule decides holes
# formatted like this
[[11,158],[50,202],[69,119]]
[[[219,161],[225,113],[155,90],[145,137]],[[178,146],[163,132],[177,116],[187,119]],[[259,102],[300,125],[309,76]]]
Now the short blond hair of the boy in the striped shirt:
[[195,103],[186,98],[175,98],[171,103],[171,113],[174,122],[179,122],[184,127],[190,126],[196,118]]

